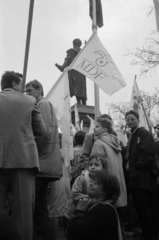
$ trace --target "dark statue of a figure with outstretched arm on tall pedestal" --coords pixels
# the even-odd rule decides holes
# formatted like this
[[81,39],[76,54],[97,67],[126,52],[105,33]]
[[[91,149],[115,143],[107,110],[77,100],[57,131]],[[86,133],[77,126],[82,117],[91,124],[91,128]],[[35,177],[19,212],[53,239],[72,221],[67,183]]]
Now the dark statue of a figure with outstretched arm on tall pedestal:
[[[63,65],[58,65],[57,63],[55,66],[63,72],[66,67],[68,67],[78,53],[81,51],[82,41],[78,38],[73,40],[73,48],[67,50],[67,56]],[[68,78],[69,78],[69,86],[70,86],[70,97],[75,96],[77,99],[77,104],[86,105],[87,100],[87,89],[86,89],[86,77],[82,73],[71,69],[68,71]]]

